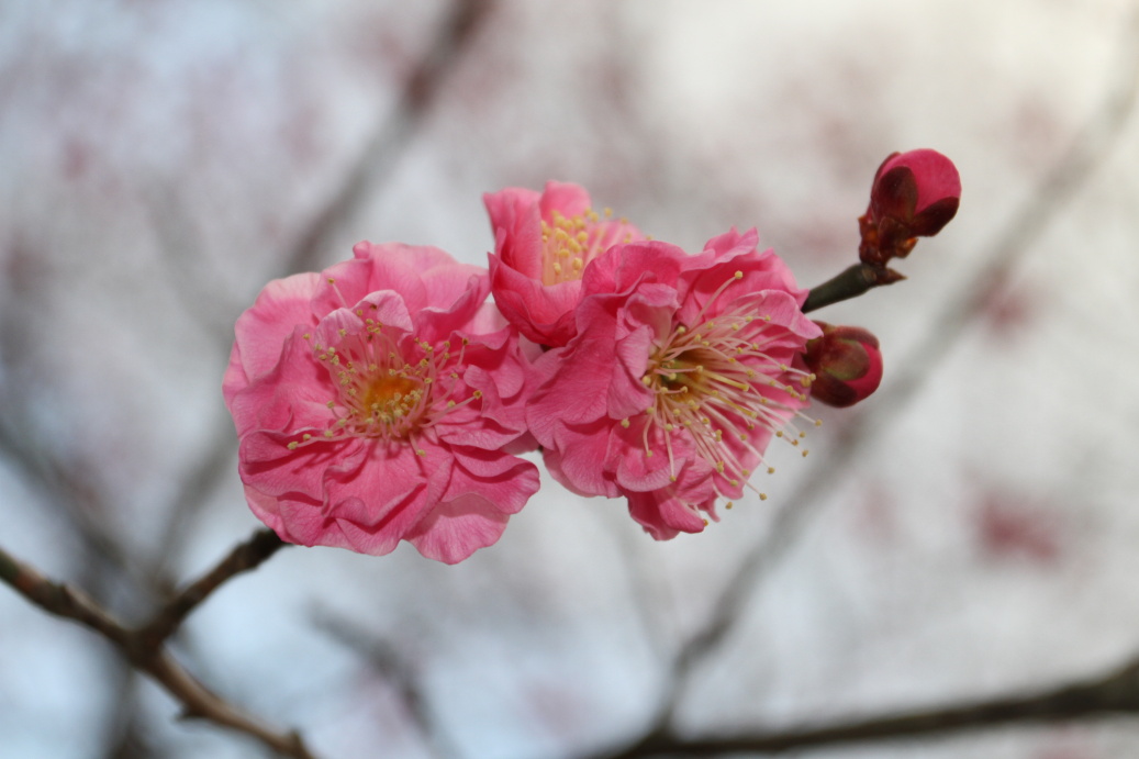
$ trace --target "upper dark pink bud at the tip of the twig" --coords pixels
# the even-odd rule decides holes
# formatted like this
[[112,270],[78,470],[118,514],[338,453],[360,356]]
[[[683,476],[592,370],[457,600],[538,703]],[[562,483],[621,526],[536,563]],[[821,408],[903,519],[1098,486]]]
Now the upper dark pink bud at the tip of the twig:
[[918,237],[932,237],[957,214],[961,178],[953,162],[923,148],[894,153],[874,177],[870,206],[859,219],[865,263],[904,259]]

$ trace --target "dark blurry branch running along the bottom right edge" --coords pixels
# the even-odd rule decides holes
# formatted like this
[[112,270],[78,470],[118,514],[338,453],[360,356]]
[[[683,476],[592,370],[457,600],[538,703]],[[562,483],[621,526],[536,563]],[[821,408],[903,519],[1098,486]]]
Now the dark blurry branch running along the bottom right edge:
[[1032,695],[977,701],[945,709],[887,715],[847,723],[784,731],[736,733],[711,738],[680,738],[658,731],[609,759],[634,757],[708,757],[727,753],[775,753],[793,749],[945,736],[962,731],[1024,723],[1057,723],[1112,715],[1139,713],[1139,659],[1106,677],[1080,680]]

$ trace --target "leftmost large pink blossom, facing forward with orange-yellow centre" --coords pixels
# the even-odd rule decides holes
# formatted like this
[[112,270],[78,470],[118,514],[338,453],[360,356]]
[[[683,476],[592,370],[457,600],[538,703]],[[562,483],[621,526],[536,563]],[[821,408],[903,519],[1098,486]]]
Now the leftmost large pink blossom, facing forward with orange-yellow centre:
[[513,456],[527,364],[486,271],[434,247],[360,243],[269,283],[223,381],[249,507],[282,540],[456,563],[538,490]]

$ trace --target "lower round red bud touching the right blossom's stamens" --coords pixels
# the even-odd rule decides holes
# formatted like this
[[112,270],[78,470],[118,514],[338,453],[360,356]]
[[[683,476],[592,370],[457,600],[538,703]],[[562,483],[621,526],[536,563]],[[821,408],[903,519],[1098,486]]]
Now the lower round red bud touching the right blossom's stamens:
[[882,382],[878,338],[861,327],[816,321],[822,336],[806,343],[803,359],[814,374],[811,398],[838,408],[869,398]]

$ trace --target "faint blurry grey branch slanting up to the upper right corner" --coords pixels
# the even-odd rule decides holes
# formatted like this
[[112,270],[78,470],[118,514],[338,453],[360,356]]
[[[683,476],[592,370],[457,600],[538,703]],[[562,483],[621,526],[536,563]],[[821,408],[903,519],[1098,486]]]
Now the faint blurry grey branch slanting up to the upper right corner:
[[931,319],[925,338],[898,362],[901,369],[893,382],[876,395],[874,414],[853,416],[843,436],[814,458],[811,473],[786,499],[767,536],[747,553],[724,585],[706,622],[677,652],[671,686],[647,735],[661,735],[669,731],[694,671],[720,650],[745,612],[747,602],[756,595],[760,581],[789,553],[823,496],[842,481],[859,454],[869,450],[870,442],[901,418],[926,382],[936,375],[934,369],[948,359],[952,345],[984,312],[983,304],[999,292],[1014,268],[1040,239],[1048,222],[1062,212],[1107,158],[1129,122],[1139,95],[1139,13],[1132,16],[1122,51],[1122,60],[1107,97],[1079,132],[1072,147],[986,246],[980,256],[981,267]]

